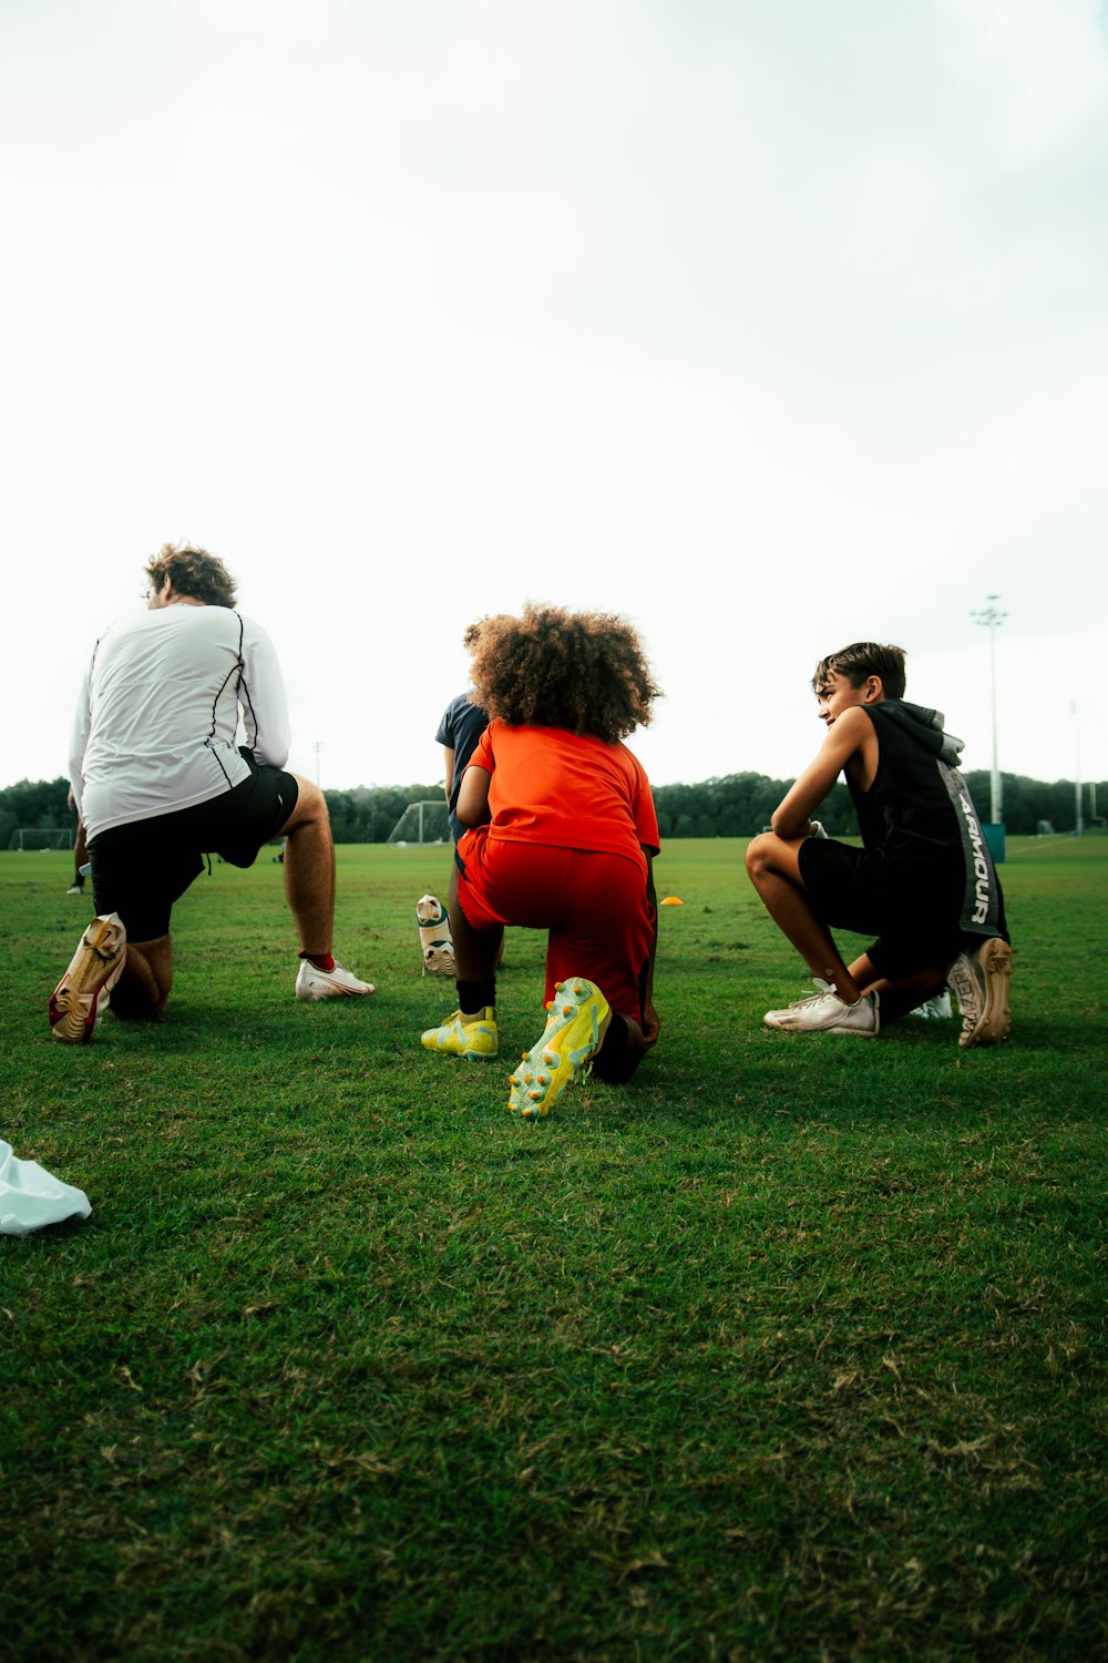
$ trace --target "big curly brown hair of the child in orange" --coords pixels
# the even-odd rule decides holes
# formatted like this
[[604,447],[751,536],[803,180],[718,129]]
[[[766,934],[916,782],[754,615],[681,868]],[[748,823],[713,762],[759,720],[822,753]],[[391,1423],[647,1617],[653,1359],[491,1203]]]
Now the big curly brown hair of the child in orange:
[[530,602],[522,617],[470,624],[473,702],[512,727],[558,727],[606,745],[646,727],[661,698],[643,645],[611,612]]

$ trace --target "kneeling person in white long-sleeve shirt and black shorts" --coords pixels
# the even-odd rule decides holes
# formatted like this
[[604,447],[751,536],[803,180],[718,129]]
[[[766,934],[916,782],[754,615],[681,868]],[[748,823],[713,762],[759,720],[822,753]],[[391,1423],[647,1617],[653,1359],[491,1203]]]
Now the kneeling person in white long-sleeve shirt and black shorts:
[[319,785],[284,770],[289,717],[272,642],[236,610],[234,579],[206,549],[163,544],[146,582],[146,612],[96,642],[73,717],[70,783],[96,918],[50,996],[50,1031],[66,1044],[90,1039],[108,1003],[126,1019],[159,1016],[173,988],[173,906],[203,856],[246,868],[276,838],[301,940],[296,998],[374,991],[331,950],[331,820]]

